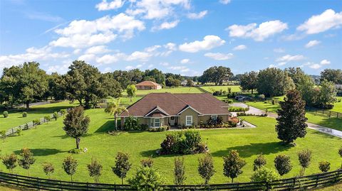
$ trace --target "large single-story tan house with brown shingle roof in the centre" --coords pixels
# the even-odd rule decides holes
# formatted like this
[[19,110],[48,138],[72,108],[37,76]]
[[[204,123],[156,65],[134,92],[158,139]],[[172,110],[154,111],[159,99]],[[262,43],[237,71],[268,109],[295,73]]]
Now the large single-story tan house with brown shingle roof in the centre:
[[226,103],[207,93],[151,93],[127,110],[120,114],[121,126],[129,116],[137,117],[139,124],[159,127],[199,125],[200,121],[206,124],[208,119],[217,119],[217,116],[227,122],[231,114]]

